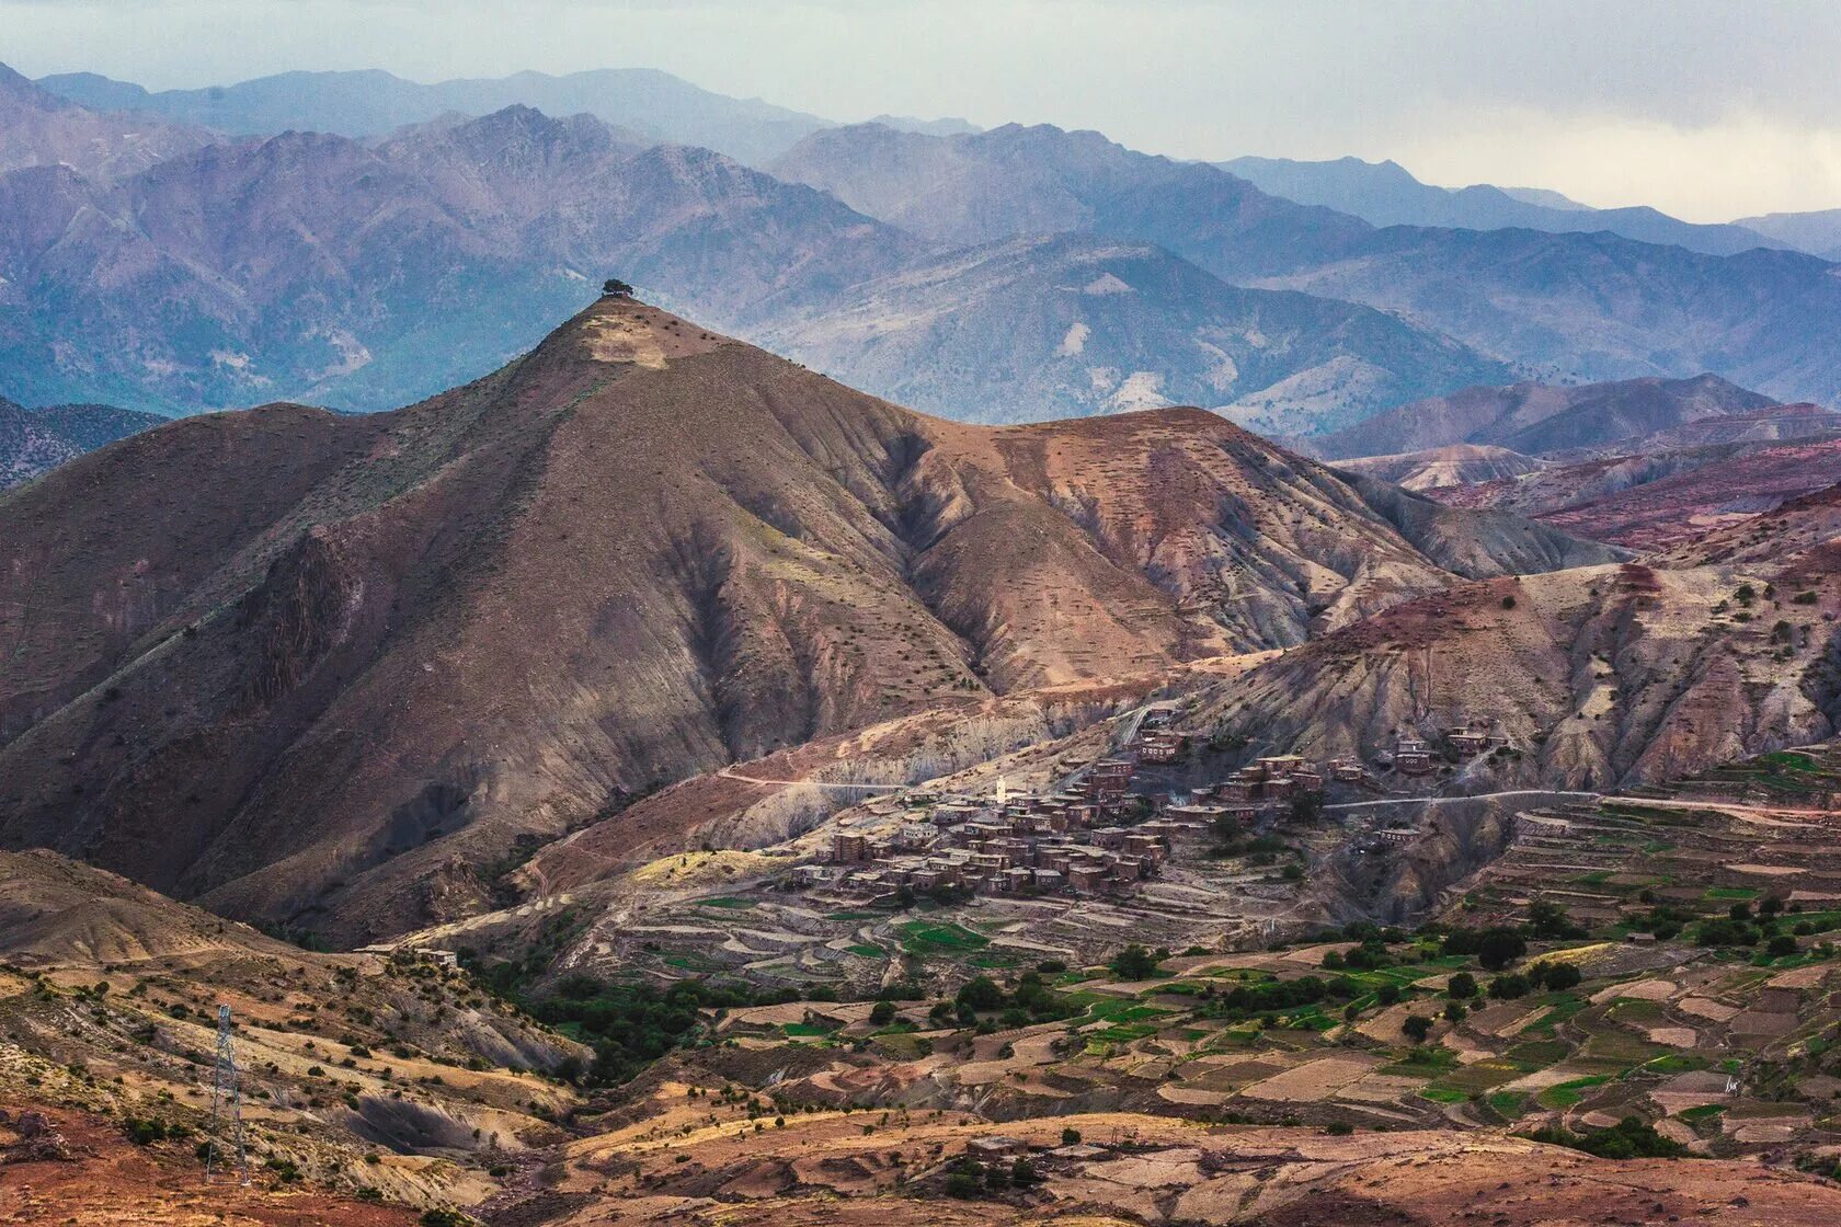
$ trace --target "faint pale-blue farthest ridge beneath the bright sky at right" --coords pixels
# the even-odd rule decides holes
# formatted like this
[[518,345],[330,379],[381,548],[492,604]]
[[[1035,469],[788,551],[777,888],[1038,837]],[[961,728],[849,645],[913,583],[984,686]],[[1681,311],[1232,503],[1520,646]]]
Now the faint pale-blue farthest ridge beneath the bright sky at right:
[[1743,223],[1707,226],[1642,206],[1600,210],[1574,201],[1552,206],[1491,184],[1434,188],[1414,178],[1397,162],[1362,162],[1360,158],[1294,162],[1291,158],[1248,156],[1230,158],[1215,166],[1250,180],[1261,191],[1300,204],[1324,204],[1377,226],[1453,226],[1462,230],[1523,226],[1548,234],[1609,230],[1638,243],[1685,247],[1690,252],[1707,252],[1708,256],[1734,256],[1754,247],[1802,247],[1747,228]]

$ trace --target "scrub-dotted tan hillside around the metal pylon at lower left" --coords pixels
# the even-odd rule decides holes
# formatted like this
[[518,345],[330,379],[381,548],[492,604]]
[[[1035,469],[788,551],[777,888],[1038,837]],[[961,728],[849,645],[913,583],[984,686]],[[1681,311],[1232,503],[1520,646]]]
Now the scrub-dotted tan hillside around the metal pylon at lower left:
[[[481,1168],[554,1141],[545,1118],[573,1102],[536,1074],[582,1049],[462,973],[307,953],[52,852],[0,854],[0,1212],[199,1221],[199,1082],[219,1003],[236,1025],[254,1170],[249,1190],[219,1190],[234,1221],[412,1221],[350,1199],[365,1188],[372,1201],[477,1201],[492,1190]],[[22,1168],[39,1155],[13,1150],[7,1126],[31,1109],[70,1144]],[[136,1118],[169,1139],[129,1146]]]

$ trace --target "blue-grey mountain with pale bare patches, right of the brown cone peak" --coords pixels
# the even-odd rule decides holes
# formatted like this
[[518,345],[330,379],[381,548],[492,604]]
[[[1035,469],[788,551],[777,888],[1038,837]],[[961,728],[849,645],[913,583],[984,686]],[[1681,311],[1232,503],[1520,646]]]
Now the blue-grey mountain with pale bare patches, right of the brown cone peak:
[[1202,405],[1309,434],[1425,392],[1508,377],[1368,307],[1226,285],[1149,243],[1009,239],[771,309],[779,351],[974,421]]

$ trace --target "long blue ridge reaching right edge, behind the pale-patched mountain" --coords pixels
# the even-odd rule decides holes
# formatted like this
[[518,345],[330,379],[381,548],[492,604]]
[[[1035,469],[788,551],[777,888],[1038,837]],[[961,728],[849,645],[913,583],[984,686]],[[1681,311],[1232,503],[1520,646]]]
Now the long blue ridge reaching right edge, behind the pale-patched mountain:
[[771,169],[955,245],[1070,230],[1156,243],[1230,283],[1395,313],[1546,383],[1712,370],[1784,401],[1841,401],[1841,276],[1800,252],[1375,228],[1213,166],[1046,125],[950,138],[828,129]]

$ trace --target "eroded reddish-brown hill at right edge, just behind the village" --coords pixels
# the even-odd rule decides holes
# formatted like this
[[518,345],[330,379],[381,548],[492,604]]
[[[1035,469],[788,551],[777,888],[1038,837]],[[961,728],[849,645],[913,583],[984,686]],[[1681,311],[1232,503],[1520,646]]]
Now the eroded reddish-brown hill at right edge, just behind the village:
[[1219,686],[1200,723],[1248,754],[1372,758],[1486,719],[1517,752],[1465,767],[1475,789],[1666,780],[1834,736],[1837,609],[1834,568],[1780,554],[1493,579],[1285,653]]

